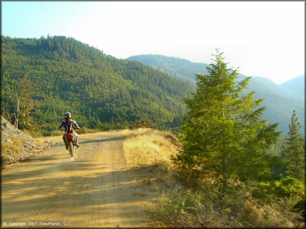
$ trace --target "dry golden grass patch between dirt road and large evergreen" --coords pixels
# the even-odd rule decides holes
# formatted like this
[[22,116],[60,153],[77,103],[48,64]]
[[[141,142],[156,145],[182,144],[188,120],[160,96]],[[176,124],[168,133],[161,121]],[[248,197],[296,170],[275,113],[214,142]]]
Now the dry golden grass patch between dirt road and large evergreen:
[[[176,136],[167,131],[155,129],[122,130],[117,133],[125,135],[123,152],[127,166],[139,173],[141,180],[159,198],[169,191],[179,191],[181,184],[174,178],[174,169],[170,160],[180,149]],[[139,179],[135,178],[135,179]]]

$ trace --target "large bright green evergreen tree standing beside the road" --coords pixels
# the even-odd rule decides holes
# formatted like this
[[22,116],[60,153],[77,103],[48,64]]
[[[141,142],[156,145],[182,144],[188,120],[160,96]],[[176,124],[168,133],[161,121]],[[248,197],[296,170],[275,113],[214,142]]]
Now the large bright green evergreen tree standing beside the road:
[[278,124],[262,120],[263,99],[243,93],[251,77],[235,82],[237,69],[228,69],[216,50],[209,75],[196,74],[197,92],[185,98],[182,151],[172,159],[187,179],[207,178],[226,191],[230,182],[270,178],[277,157],[266,151],[280,132],[275,132]]

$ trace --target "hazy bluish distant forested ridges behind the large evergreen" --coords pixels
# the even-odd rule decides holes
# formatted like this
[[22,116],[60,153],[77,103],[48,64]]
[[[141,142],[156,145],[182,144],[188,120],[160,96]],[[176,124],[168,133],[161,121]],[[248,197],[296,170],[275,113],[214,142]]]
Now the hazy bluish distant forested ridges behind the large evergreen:
[[[131,56],[128,59],[138,60],[144,64],[159,67],[162,71],[167,71],[172,75],[195,80],[194,74],[207,74],[206,67],[208,64],[193,63],[189,60],[161,56],[161,55],[139,55]],[[239,66],[234,66],[239,67]],[[243,79],[245,75],[239,74],[239,79]],[[266,107],[263,112],[265,118],[271,123],[279,123],[278,129],[285,134],[289,131],[290,117],[293,110],[296,111],[297,117],[301,124],[301,132],[305,131],[305,101],[304,101],[304,75],[298,76],[277,85],[273,81],[262,78],[252,77],[248,88],[255,91],[254,98],[265,98],[262,106]],[[195,82],[195,81],[194,81]]]

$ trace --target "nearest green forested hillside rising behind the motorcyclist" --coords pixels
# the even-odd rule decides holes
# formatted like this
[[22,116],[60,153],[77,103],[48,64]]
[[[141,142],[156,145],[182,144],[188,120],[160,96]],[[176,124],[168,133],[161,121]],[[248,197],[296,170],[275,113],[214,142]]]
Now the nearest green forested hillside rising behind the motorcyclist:
[[2,110],[16,111],[24,76],[33,84],[33,99],[41,101],[35,121],[48,125],[46,134],[58,128],[65,111],[81,127],[120,129],[149,118],[176,129],[186,112],[184,94],[195,91],[188,80],[105,55],[74,38],[2,36]]

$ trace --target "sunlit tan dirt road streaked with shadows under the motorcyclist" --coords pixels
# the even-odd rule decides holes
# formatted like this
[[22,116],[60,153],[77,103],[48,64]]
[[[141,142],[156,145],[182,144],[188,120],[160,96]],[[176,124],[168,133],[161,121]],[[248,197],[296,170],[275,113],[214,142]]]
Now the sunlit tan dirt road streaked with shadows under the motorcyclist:
[[127,169],[124,136],[81,135],[75,158],[61,136],[47,139],[60,144],[2,170],[1,227],[154,226],[145,205],[156,195]]

